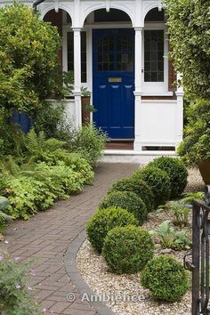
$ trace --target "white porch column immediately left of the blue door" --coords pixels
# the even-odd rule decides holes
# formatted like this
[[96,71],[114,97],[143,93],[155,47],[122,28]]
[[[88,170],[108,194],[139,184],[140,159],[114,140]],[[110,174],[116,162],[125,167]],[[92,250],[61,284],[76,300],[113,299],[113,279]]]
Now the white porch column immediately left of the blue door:
[[75,125],[82,125],[81,104],[81,28],[72,28],[74,32],[74,96],[75,96]]

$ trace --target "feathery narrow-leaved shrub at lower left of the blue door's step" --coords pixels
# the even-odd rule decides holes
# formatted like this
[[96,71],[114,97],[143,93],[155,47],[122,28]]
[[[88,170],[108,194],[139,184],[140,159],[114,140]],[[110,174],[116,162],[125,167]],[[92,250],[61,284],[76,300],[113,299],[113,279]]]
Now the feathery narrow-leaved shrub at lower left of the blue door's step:
[[75,133],[74,140],[69,143],[69,149],[79,152],[91,166],[95,166],[103,155],[107,140],[106,133],[94,125],[84,125]]

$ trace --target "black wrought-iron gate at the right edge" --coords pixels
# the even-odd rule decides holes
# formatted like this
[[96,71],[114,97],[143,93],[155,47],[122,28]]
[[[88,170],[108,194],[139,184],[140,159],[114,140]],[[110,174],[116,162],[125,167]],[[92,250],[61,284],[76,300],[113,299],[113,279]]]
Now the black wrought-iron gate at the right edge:
[[192,271],[192,315],[210,315],[209,304],[210,186],[205,200],[195,200],[192,207],[192,261],[185,267]]

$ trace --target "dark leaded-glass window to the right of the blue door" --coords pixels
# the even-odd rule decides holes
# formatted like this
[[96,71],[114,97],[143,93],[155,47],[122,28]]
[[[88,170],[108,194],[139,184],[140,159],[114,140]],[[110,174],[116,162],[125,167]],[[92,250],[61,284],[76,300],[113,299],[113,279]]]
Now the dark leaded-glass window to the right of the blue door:
[[144,31],[144,82],[164,82],[164,30]]

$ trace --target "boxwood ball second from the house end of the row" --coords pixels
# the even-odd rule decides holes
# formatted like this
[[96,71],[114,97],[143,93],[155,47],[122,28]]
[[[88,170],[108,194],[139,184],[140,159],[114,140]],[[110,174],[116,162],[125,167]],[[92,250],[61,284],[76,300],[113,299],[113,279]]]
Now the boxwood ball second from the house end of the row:
[[158,167],[146,166],[133,174],[133,178],[144,181],[149,185],[155,197],[155,207],[164,205],[171,195],[171,182],[165,171]]

